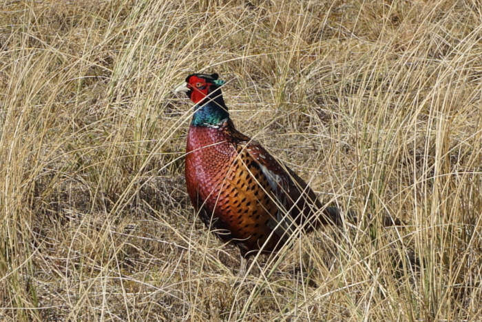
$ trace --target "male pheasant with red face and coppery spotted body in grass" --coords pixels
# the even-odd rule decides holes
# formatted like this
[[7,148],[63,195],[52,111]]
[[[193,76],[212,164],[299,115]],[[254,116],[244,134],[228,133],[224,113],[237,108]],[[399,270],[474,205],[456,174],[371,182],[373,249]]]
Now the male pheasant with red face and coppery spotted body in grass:
[[[323,205],[315,192],[235,129],[222,99],[218,74],[191,74],[176,92],[193,101],[186,152],[189,198],[202,221],[222,241],[232,241],[245,259],[273,252],[302,227],[341,223],[337,208]],[[322,210],[322,211],[321,211]]]

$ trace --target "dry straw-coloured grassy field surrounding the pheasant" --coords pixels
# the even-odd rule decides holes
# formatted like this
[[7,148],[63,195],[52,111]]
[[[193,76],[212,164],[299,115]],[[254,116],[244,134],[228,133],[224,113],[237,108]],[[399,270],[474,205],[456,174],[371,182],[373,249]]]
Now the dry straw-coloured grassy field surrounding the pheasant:
[[[481,321],[480,1],[0,12],[0,321]],[[172,89],[191,72],[218,72],[237,128],[362,220],[237,279],[185,190],[193,110]]]

